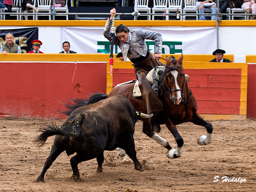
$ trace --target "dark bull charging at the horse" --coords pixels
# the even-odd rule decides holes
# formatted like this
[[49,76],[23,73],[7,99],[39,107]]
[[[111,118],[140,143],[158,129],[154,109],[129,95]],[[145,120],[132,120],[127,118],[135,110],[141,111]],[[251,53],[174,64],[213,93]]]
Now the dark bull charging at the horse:
[[75,180],[81,179],[78,170],[79,163],[96,157],[97,172],[102,172],[103,152],[112,151],[117,147],[124,149],[133,160],[134,169],[143,171],[136,157],[133,138],[134,125],[138,119],[137,113],[125,97],[114,96],[106,99],[107,97],[105,94],[98,93],[87,100],[87,104],[83,102],[81,104],[83,107],[73,106],[70,110],[73,112],[61,128],[54,124],[41,128],[42,133],[35,140],[39,145],[44,145],[47,137],[56,136],[51,153],[37,178],[38,181],[44,180],[45,172],[63,151],[66,151],[67,155],[77,153],[70,159]]

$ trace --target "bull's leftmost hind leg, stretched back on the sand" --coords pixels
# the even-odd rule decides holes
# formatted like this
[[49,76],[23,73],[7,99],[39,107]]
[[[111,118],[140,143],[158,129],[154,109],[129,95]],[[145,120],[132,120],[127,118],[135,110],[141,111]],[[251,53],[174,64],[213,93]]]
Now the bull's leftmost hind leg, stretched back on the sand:
[[53,161],[56,160],[56,158],[63,152],[64,150],[61,150],[57,148],[55,145],[52,146],[51,153],[49,157],[47,157],[47,160],[44,163],[44,168],[41,172],[41,174],[38,176],[37,181],[43,181],[44,180],[44,174],[46,173],[47,169],[52,165]]

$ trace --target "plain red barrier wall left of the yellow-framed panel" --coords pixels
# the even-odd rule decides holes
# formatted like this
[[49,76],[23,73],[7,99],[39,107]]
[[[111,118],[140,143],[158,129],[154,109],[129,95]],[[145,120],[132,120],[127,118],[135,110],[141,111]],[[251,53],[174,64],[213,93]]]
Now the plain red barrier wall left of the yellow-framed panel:
[[1,62],[0,117],[58,118],[61,102],[106,93],[105,62]]

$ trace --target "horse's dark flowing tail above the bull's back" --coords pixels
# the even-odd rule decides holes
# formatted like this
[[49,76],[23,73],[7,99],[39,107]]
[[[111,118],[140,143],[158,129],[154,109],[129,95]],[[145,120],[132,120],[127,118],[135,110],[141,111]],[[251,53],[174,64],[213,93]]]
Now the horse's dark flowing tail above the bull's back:
[[65,114],[65,115],[70,115],[74,110],[76,110],[77,108],[83,107],[83,106],[87,106],[96,102],[99,102],[102,99],[107,99],[108,95],[105,95],[104,93],[95,93],[92,96],[90,96],[89,99],[71,99],[71,101],[74,102],[74,104],[65,104],[63,103],[63,105],[68,109],[67,111],[61,111],[61,113]]

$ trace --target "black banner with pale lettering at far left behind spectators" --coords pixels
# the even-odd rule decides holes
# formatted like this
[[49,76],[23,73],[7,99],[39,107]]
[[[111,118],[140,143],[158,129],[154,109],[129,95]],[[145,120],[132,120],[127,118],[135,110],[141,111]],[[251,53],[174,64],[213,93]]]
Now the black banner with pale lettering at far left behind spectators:
[[5,44],[6,33],[12,33],[14,43],[20,46],[22,53],[31,51],[32,41],[38,39],[38,27],[23,28],[23,29],[2,29],[0,30],[0,45]]

